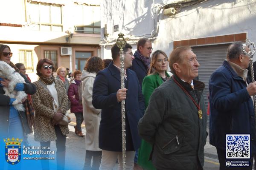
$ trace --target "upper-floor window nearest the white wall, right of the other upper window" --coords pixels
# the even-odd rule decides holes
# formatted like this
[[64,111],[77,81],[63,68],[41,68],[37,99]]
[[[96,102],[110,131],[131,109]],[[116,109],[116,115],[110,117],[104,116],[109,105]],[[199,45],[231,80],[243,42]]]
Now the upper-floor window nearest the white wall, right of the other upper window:
[[76,33],[100,34],[100,7],[99,5],[75,4],[74,22]]

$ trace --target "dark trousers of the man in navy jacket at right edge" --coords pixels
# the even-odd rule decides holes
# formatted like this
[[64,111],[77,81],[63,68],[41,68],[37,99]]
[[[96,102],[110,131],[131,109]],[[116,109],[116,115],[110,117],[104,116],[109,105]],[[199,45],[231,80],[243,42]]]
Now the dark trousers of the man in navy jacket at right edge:
[[[250,155],[250,159],[226,159],[226,151],[221,150],[219,148],[217,149],[218,159],[220,163],[220,170],[252,170],[253,168],[253,154]],[[227,167],[226,161],[250,161],[250,167]]]

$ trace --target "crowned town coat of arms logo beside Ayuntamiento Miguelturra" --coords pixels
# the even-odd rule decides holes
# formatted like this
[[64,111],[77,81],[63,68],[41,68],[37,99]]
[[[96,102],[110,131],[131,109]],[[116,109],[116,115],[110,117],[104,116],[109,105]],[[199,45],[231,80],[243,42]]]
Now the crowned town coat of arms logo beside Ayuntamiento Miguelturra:
[[6,161],[9,164],[19,163],[21,159],[20,143],[22,142],[22,139],[8,138],[8,139],[3,139],[3,141],[6,143],[6,146],[5,146]]

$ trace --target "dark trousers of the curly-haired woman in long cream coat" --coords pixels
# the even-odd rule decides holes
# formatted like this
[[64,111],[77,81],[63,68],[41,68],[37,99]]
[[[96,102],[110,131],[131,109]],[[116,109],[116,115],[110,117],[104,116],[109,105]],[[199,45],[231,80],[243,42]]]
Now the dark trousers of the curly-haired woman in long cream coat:
[[[91,166],[91,160],[93,164]],[[102,151],[86,150],[83,170],[99,170],[99,165],[102,159]]]

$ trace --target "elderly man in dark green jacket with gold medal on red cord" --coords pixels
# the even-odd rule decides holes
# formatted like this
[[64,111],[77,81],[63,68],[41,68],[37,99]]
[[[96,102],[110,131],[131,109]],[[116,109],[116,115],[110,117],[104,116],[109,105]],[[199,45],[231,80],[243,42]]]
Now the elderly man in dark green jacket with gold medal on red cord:
[[207,115],[204,83],[195,80],[199,63],[189,46],[172,51],[174,76],[151,95],[138,128],[153,145],[151,159],[159,170],[202,170]]

